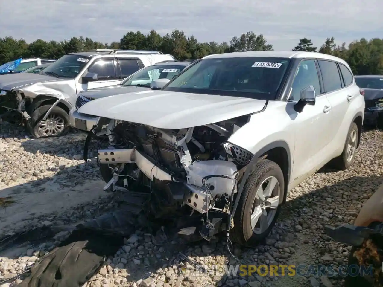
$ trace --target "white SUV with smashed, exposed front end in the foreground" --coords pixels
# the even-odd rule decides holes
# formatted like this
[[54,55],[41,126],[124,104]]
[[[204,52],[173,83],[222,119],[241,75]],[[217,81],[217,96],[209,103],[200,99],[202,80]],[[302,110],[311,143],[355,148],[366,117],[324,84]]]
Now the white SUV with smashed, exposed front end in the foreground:
[[288,191],[329,161],[346,169],[354,160],[365,104],[342,59],[209,55],[165,82],[79,109],[100,116],[92,133],[110,144],[98,150],[105,189],[130,197],[132,212],[252,245],[268,235]]

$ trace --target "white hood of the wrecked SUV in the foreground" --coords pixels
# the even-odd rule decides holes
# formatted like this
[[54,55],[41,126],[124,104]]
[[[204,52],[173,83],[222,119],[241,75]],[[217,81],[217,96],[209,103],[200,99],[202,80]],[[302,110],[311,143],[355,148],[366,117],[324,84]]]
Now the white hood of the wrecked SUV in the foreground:
[[183,129],[259,112],[265,104],[260,99],[149,90],[95,99],[78,112],[160,129]]

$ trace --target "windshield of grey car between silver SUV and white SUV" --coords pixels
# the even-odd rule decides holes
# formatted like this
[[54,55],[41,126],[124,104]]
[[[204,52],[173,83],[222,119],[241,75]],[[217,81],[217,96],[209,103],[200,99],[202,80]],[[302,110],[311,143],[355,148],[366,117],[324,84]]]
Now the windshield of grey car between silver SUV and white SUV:
[[186,66],[180,65],[154,65],[142,68],[130,77],[126,78],[121,85],[125,86],[147,86],[153,80],[169,79],[177,76]]

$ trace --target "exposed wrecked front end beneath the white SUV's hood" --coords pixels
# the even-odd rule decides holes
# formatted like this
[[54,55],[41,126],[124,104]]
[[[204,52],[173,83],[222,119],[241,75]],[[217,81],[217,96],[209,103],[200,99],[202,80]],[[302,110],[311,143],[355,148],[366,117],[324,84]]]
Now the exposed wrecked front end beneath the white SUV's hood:
[[[253,155],[228,138],[248,121],[249,116],[241,116],[161,130],[101,117],[90,134],[108,137],[108,147],[98,150],[104,190],[127,196],[132,212],[164,220],[196,219],[198,232],[210,240],[233,225],[237,186]],[[87,160],[85,154],[87,147]]]

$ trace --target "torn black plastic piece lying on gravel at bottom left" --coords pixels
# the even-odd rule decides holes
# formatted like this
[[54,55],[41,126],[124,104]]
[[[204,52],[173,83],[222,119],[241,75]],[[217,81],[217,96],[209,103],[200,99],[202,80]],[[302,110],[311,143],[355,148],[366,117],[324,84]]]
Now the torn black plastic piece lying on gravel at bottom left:
[[[74,239],[79,239],[74,242]],[[68,243],[70,242],[70,243]],[[20,287],[80,287],[123,246],[124,238],[102,230],[77,229],[39,264]]]

